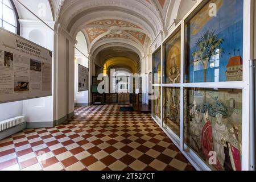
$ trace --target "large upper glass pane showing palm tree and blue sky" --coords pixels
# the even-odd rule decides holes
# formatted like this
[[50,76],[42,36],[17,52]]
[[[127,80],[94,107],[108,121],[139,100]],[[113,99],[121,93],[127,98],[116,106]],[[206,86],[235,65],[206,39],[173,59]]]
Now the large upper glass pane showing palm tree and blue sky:
[[185,45],[184,82],[242,81],[243,0],[210,0],[185,24]]

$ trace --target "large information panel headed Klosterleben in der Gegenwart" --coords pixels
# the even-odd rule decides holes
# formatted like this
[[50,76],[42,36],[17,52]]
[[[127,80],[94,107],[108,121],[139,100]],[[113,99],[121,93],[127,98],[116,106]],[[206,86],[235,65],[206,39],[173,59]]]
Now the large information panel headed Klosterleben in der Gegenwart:
[[52,52],[0,28],[0,103],[52,95]]

